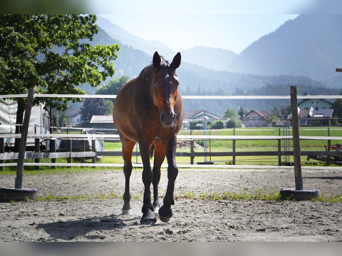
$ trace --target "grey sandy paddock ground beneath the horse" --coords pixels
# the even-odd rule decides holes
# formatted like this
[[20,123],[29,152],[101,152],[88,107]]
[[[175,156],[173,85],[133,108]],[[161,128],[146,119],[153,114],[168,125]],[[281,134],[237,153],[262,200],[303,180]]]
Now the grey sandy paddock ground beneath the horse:
[[[312,201],[228,201],[179,198],[168,224],[141,225],[141,170],[131,176],[134,215],[120,215],[123,200],[65,200],[0,203],[0,241],[341,241],[342,204]],[[14,175],[0,175],[1,187],[13,187]],[[305,188],[326,196],[342,193],[339,171],[303,170]],[[167,172],[162,170],[160,195]],[[40,196],[123,194],[121,170],[26,175],[24,187]],[[194,193],[274,193],[294,187],[289,170],[180,169],[175,195]],[[162,200],[161,200],[162,201]]]

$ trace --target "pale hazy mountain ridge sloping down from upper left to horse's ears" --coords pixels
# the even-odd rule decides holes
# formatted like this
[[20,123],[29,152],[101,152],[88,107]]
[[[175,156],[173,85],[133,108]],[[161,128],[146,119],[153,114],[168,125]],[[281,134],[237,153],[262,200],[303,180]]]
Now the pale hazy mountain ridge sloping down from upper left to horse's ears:
[[141,37],[137,37],[127,30],[111,23],[108,19],[105,19],[99,15],[96,16],[96,24],[103,28],[110,37],[120,41],[122,44],[132,46],[135,49],[141,49],[149,55],[153,55],[155,51],[158,51],[161,55],[175,55],[176,52],[169,46],[158,42],[149,41]]

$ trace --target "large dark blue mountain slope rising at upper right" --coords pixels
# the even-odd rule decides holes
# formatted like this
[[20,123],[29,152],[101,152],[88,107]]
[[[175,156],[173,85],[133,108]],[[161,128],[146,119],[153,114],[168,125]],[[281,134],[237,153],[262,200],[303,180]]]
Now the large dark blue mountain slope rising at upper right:
[[[225,70],[257,75],[309,76],[341,86],[342,15],[302,14],[253,42]],[[339,76],[340,77],[340,76]]]

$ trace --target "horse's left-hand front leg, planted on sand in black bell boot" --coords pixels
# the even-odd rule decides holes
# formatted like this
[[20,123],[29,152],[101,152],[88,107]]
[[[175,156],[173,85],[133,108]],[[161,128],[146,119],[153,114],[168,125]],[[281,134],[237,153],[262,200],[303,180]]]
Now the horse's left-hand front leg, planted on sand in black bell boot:
[[142,179],[144,183],[144,199],[143,199],[143,207],[141,211],[143,216],[140,219],[141,224],[154,224],[157,222],[156,216],[153,213],[153,205],[151,198],[151,183],[153,178],[153,172],[150,165],[149,158],[149,146],[151,144],[139,141],[140,154],[143,161],[143,174]]

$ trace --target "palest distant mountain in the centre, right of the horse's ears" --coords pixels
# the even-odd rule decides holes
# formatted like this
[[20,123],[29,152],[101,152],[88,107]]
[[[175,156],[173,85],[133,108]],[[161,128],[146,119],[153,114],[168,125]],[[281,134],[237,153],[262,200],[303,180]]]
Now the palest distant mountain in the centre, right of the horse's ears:
[[224,70],[236,53],[221,48],[195,46],[182,51],[182,60],[208,69]]

